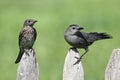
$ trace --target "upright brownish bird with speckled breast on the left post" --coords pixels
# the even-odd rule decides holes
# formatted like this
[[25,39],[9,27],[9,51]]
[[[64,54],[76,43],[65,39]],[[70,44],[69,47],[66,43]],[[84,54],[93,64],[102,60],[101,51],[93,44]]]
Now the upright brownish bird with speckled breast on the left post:
[[31,49],[37,36],[37,32],[33,25],[36,23],[36,20],[27,19],[23,24],[23,28],[19,34],[19,54],[15,61],[15,63],[19,63],[22,55],[24,53],[24,49]]

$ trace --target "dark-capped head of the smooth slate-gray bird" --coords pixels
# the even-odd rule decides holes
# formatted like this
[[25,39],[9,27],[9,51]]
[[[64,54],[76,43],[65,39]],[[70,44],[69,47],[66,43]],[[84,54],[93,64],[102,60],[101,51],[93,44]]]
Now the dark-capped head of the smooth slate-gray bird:
[[77,24],[71,24],[69,25],[67,31],[70,32],[70,34],[76,34],[77,32],[79,32],[80,30],[83,30],[83,27],[80,27]]

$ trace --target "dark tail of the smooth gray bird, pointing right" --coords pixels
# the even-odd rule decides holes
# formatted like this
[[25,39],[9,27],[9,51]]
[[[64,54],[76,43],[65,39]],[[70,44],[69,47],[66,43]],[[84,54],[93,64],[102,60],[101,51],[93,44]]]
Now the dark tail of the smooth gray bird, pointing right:
[[97,33],[97,32],[92,32],[90,35],[94,38],[94,40],[102,40],[102,39],[110,39],[112,38],[110,35],[106,33]]

